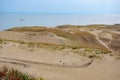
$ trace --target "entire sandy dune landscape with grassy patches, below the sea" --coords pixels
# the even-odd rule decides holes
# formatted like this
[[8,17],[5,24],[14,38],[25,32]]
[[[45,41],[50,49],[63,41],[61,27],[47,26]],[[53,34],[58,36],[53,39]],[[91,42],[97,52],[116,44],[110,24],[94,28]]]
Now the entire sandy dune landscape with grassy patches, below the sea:
[[0,66],[45,80],[120,80],[119,35],[108,25],[0,31]]

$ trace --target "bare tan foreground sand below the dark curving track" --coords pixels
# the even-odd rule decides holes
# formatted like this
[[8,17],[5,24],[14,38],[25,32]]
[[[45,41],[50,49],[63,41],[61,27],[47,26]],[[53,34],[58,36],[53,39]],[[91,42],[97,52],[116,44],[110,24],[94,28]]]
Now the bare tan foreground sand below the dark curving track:
[[9,63],[1,64],[17,68],[34,76],[44,77],[47,80],[120,80],[120,61],[114,60],[96,60],[86,68],[58,67],[43,64],[29,64],[29,67]]

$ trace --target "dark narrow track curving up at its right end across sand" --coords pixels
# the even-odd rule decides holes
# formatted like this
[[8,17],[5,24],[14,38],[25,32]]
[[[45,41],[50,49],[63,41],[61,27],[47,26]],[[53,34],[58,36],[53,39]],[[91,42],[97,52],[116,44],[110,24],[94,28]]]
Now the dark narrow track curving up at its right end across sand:
[[21,59],[9,58],[9,57],[0,57],[0,62],[21,65],[24,67],[30,66],[27,64],[31,64],[31,65],[36,64],[36,65],[46,65],[46,66],[48,65],[48,66],[56,66],[56,67],[80,68],[80,67],[88,67],[90,64],[93,63],[93,61],[94,59],[82,65],[58,65],[58,64],[42,63],[42,62],[35,62],[29,60],[21,60]]

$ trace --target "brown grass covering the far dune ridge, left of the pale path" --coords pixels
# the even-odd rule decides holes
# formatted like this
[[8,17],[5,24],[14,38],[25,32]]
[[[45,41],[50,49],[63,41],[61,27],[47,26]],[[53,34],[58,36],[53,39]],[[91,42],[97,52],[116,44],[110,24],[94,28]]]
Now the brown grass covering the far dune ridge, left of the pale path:
[[[86,28],[97,27],[105,25],[87,25]],[[81,47],[87,48],[97,48],[101,50],[107,49],[102,46],[95,38],[93,34],[90,34],[86,31],[80,31],[79,29],[83,26],[75,25],[61,25],[56,28],[46,28],[41,26],[29,26],[29,27],[16,27],[8,29],[7,31],[16,31],[16,32],[28,32],[29,35],[36,36],[36,34],[50,35],[50,33],[55,34],[58,37],[66,38],[70,40],[75,45],[81,45]],[[101,27],[100,27],[101,28]],[[64,30],[65,29],[65,30]],[[72,34],[71,31],[74,33]],[[72,44],[71,44],[72,45]],[[75,49],[75,48],[74,48]]]

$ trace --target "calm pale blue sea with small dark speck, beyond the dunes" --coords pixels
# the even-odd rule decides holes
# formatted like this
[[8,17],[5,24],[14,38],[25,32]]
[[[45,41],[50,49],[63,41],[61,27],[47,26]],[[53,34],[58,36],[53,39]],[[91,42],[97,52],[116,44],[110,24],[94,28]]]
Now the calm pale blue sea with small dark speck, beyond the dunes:
[[0,30],[20,26],[87,25],[120,23],[120,14],[23,14],[0,13]]

